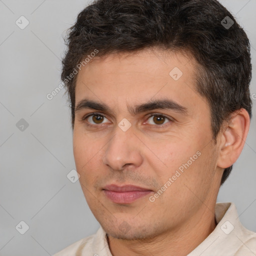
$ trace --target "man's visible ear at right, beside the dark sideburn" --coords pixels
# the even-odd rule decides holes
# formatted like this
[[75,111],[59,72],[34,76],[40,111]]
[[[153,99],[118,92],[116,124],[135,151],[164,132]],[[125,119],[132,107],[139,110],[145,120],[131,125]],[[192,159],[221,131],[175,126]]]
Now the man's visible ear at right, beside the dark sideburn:
[[220,133],[218,167],[227,168],[237,160],[244,146],[249,125],[249,114],[244,108],[231,113],[230,120]]

